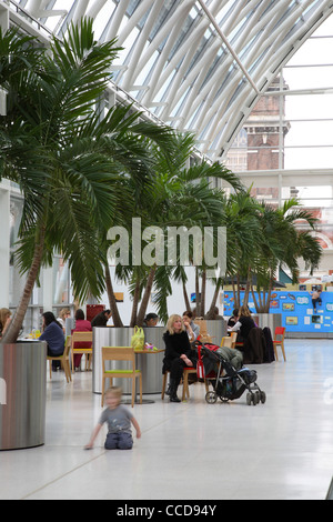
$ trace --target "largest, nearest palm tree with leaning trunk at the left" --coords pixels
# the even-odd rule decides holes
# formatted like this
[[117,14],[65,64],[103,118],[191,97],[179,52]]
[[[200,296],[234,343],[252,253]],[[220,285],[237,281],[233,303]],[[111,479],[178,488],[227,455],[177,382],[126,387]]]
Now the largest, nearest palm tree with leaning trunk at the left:
[[114,137],[121,114],[97,109],[115,41],[97,43],[92,21],[82,20],[62,42],[53,38],[50,51],[36,50],[18,33],[0,34],[0,87],[8,91],[1,177],[24,195],[17,259],[28,274],[2,342],[17,339],[40,268],[51,264],[54,251],[69,261],[77,298],[102,293],[105,252],[99,238],[113,223],[123,172],[132,169],[143,184],[150,175],[147,143],[124,128]]

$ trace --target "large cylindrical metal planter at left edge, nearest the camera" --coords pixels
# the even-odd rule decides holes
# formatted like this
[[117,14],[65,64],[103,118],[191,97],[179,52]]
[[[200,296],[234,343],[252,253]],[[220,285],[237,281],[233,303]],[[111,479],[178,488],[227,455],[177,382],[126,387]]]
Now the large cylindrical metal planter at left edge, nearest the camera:
[[0,344],[0,450],[44,443],[47,343]]

